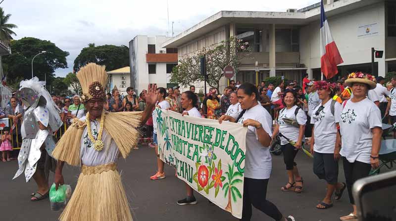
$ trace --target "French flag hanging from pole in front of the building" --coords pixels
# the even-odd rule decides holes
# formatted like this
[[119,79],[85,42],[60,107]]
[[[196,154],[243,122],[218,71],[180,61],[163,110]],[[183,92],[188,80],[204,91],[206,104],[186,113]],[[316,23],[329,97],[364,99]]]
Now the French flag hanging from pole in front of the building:
[[337,65],[344,61],[331,35],[323,0],[320,5],[320,56],[320,70],[327,79],[334,77],[338,73]]

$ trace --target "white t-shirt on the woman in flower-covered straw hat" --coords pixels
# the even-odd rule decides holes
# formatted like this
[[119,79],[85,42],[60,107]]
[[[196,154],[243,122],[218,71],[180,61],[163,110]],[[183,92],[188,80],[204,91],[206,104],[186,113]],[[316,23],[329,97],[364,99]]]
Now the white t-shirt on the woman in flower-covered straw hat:
[[368,98],[353,103],[348,100],[340,119],[342,148],[340,154],[348,162],[370,164],[373,146],[371,129],[382,128],[381,111]]

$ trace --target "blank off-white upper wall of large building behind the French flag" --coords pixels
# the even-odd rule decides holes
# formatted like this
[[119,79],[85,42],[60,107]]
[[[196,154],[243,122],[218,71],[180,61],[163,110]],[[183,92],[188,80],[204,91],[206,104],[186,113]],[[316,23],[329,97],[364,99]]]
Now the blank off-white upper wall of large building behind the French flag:
[[[358,10],[328,17],[333,39],[344,60],[341,65],[371,62],[371,48],[385,50],[385,4],[377,3]],[[358,38],[358,26],[378,23],[379,34]],[[309,68],[320,68],[320,23],[300,29],[300,62]],[[379,61],[379,73],[385,68],[385,56]]]

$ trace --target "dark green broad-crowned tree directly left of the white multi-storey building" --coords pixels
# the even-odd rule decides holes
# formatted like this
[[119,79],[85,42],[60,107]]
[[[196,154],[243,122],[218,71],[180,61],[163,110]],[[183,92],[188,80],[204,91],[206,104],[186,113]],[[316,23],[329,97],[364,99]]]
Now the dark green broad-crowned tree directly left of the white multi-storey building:
[[95,43],[91,43],[76,57],[73,69],[78,71],[80,67],[91,62],[105,65],[106,70],[129,66],[129,49],[125,45],[95,46]]

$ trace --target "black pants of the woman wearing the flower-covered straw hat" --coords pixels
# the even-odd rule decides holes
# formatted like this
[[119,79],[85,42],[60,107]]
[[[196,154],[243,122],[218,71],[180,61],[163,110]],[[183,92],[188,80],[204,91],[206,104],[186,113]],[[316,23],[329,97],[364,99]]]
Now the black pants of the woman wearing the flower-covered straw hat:
[[352,186],[356,180],[368,176],[371,170],[371,165],[363,162],[355,161],[349,163],[347,158],[343,157],[345,181],[347,183],[349,202],[355,204],[352,196]]

